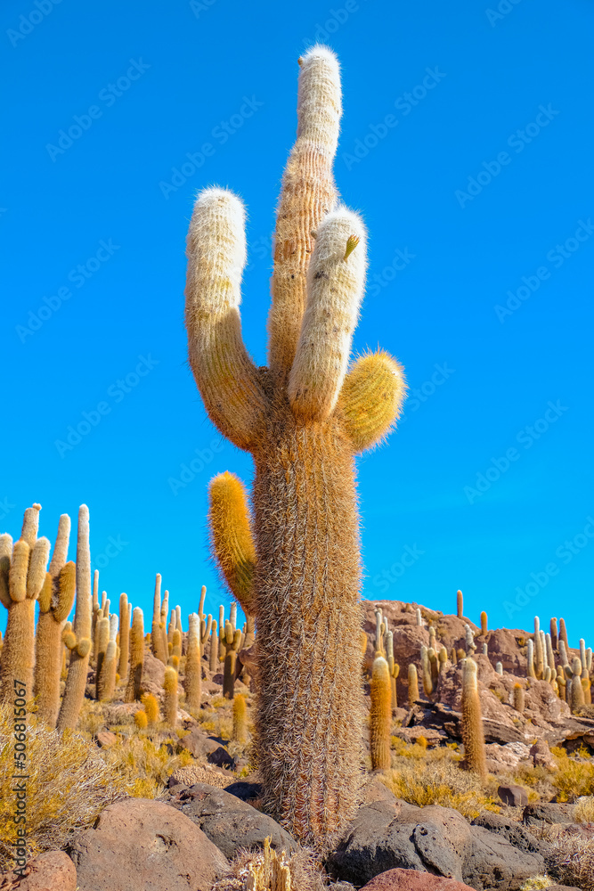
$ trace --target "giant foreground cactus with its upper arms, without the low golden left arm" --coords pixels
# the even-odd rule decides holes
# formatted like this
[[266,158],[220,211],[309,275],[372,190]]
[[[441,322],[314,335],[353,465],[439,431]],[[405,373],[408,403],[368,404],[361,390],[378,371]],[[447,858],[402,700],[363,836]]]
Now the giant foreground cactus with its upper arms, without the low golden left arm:
[[231,192],[199,196],[186,286],[190,363],[207,412],[256,464],[256,748],[266,804],[319,846],[349,822],[360,785],[354,455],[387,435],[404,391],[385,353],[347,371],[366,259],[362,222],[338,206],[332,177],[340,114],[338,62],[313,47],[301,59],[297,142],[277,215],[268,368],[256,368],[240,336],[244,211]]

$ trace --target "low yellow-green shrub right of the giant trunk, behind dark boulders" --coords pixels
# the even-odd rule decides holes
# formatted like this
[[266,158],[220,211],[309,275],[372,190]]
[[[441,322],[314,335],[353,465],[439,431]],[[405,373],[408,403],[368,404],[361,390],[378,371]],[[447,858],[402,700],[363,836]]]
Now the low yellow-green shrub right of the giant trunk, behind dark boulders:
[[468,819],[484,810],[500,811],[500,805],[488,794],[480,778],[462,770],[452,758],[403,759],[396,770],[388,771],[380,779],[397,798],[411,805],[453,807]]

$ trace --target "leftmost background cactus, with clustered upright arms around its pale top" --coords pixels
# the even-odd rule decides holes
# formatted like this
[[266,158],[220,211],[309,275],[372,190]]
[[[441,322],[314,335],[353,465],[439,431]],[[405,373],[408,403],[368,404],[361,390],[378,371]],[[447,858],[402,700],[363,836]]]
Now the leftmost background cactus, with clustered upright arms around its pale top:
[[50,543],[37,538],[40,506],[25,511],[19,541],[0,535],[0,602],[8,609],[0,661],[0,702],[12,703],[14,682],[33,698],[35,601],[45,582]]

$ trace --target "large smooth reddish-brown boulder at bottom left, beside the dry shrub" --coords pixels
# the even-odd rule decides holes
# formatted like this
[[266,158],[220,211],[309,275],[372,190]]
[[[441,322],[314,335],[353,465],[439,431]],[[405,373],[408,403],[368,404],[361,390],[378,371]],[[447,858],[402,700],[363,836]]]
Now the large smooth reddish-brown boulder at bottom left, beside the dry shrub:
[[188,817],[147,798],[106,807],[70,856],[79,891],[209,891],[229,866]]

